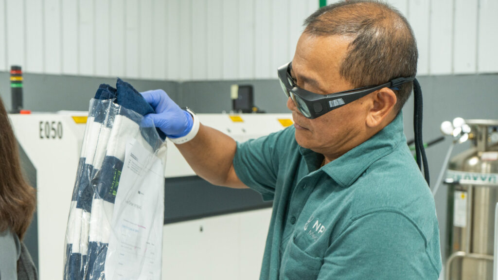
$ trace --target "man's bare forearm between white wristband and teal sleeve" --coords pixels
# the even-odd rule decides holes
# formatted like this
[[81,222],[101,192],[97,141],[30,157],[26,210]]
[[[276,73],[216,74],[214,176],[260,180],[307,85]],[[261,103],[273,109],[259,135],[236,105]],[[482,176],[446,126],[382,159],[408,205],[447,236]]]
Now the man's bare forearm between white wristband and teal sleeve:
[[214,185],[246,188],[237,177],[233,159],[237,143],[228,135],[200,125],[196,137],[176,145],[197,175]]

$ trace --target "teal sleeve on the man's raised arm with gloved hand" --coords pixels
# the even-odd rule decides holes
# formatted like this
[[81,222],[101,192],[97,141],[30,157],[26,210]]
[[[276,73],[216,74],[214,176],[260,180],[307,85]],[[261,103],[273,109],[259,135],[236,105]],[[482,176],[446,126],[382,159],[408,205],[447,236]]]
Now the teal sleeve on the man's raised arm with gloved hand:
[[251,189],[259,192],[263,200],[273,200],[281,160],[278,147],[289,130],[272,133],[254,140],[237,142],[234,168],[239,179]]

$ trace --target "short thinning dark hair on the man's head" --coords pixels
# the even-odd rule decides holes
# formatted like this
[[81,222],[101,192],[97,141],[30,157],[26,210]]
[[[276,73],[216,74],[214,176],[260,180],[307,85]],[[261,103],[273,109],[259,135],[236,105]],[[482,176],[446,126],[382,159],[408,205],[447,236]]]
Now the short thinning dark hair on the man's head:
[[[376,0],[343,0],[322,7],[304,21],[304,33],[352,38],[340,74],[355,87],[379,85],[417,74],[417,44],[406,18],[394,7]],[[394,90],[399,112],[413,82]]]

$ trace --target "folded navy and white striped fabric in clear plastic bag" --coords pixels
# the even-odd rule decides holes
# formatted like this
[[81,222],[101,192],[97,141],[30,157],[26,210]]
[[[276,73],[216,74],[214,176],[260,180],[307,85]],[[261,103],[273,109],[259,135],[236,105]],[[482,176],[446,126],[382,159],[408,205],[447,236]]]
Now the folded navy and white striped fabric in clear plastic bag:
[[90,102],[66,232],[65,280],[104,280],[127,140],[157,151],[165,135],[144,126],[154,110],[131,85],[102,84]]

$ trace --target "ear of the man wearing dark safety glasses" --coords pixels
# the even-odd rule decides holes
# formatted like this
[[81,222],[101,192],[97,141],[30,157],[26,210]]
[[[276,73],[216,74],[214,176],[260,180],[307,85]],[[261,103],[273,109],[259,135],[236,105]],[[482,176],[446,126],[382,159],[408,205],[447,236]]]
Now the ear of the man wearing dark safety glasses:
[[395,117],[396,94],[390,88],[381,88],[371,95],[372,104],[367,116],[367,126],[375,128],[385,122],[389,123]]

